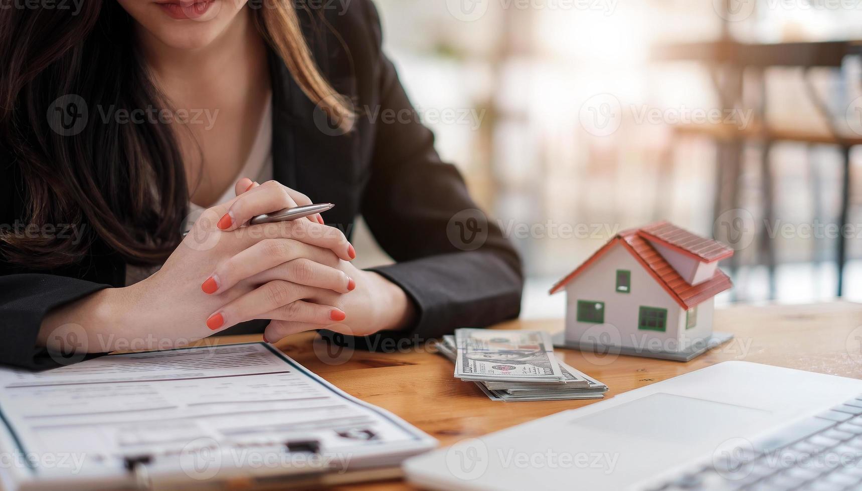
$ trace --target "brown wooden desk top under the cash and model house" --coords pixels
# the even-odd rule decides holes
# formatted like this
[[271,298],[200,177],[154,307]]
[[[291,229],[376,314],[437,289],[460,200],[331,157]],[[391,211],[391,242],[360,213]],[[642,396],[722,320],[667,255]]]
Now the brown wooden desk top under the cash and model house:
[[[498,328],[553,333],[562,330],[563,321],[514,321]],[[862,304],[835,301],[806,306],[721,308],[715,312],[715,328],[734,333],[736,338],[687,364],[622,356],[611,361],[579,351],[559,352],[567,364],[607,383],[610,390],[606,397],[729,360],[862,378]],[[347,393],[396,413],[444,446],[595,402],[490,401],[474,384],[454,379],[453,365],[434,354],[433,346],[394,353],[355,351],[343,364],[328,364],[325,361],[332,360],[322,361],[316,355],[313,339],[311,333],[297,334],[278,343],[278,348]],[[259,336],[226,336],[203,342],[259,340]],[[409,486],[390,481],[343,488]]]

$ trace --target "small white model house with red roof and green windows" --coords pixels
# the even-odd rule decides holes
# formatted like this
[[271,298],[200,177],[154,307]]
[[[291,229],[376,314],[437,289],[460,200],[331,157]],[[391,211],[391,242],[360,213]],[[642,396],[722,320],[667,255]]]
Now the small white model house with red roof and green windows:
[[715,295],[731,288],[718,269],[732,249],[666,221],[617,234],[553,286],[565,289],[565,340],[580,349],[688,360],[730,339],[714,337]]

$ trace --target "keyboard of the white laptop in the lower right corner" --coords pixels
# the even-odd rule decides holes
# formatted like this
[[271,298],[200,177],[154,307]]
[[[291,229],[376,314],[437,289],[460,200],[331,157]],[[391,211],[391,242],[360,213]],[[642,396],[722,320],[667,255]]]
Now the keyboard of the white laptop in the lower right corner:
[[862,490],[862,395],[766,438],[734,438],[655,491]]

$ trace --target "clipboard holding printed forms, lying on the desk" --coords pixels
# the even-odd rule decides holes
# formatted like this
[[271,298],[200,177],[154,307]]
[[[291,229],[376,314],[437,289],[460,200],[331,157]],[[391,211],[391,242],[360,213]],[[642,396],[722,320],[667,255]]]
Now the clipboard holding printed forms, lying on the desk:
[[265,343],[0,369],[3,489],[328,486],[436,444]]

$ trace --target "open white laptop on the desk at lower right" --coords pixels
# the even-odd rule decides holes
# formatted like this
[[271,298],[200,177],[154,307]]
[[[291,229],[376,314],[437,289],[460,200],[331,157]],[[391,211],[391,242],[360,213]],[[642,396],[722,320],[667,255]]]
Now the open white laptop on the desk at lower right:
[[[803,451],[849,457],[808,469],[775,460]],[[465,438],[404,469],[432,489],[858,489],[859,459],[862,380],[727,362]]]

